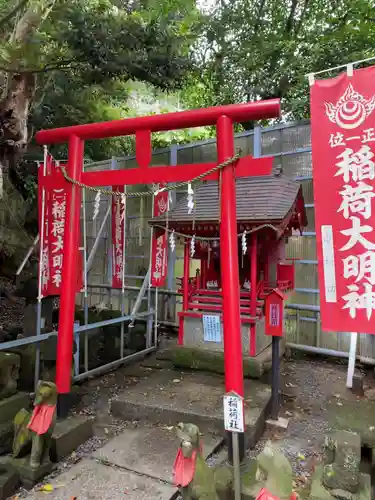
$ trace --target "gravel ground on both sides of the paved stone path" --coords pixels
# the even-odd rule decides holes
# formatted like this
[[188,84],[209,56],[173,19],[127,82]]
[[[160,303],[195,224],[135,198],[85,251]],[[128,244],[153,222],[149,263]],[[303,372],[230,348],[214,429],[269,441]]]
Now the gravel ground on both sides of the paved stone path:
[[[248,452],[255,457],[268,440],[276,442],[290,459],[295,473],[296,488],[303,488],[309,482],[315,464],[321,459],[322,442],[329,432],[325,419],[325,405],[332,396],[355,398],[345,388],[346,363],[310,359],[295,359],[285,362],[282,371],[282,406],[280,416],[289,420],[286,431],[267,429],[256,447]],[[137,378],[124,373],[125,368],[101,378],[90,380],[81,386],[81,403],[77,414],[94,418],[95,437],[80,446],[70,457],[58,464],[52,477],[56,477],[72,465],[88,458],[93,451],[102,447],[109,439],[126,427],[136,427],[137,421],[124,422],[114,419],[110,413],[110,401],[119,391],[134,385]],[[366,372],[366,394],[375,392],[373,372]],[[340,404],[338,402],[338,404]],[[226,450],[209,459],[210,465],[225,460]],[[46,478],[48,482],[48,478]],[[19,498],[25,492],[19,493]]]

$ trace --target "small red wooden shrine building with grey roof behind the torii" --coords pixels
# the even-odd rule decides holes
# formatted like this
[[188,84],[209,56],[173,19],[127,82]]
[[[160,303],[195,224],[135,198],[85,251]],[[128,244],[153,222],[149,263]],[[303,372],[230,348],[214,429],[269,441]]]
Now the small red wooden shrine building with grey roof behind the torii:
[[[283,174],[238,178],[236,194],[242,349],[244,356],[257,356],[271,343],[264,334],[266,295],[274,288],[294,290],[294,263],[285,258],[285,245],[293,230],[302,233],[307,226],[306,210],[301,184]],[[167,226],[190,236],[184,275],[177,278],[183,295],[178,339],[186,347],[224,350],[219,206],[218,182],[204,181],[195,188],[192,213],[184,197],[168,215],[150,221],[155,230]],[[200,261],[193,276],[191,258]]]

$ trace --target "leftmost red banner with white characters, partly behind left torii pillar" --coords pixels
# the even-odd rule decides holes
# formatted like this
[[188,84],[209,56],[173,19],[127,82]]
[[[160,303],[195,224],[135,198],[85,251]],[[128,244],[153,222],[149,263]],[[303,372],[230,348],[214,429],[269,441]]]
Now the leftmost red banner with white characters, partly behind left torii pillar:
[[[45,176],[53,178],[57,169],[55,161],[48,156]],[[44,166],[40,165],[38,171],[38,184],[44,184]],[[43,195],[44,192],[44,195]],[[42,217],[44,196],[44,213]],[[64,232],[66,216],[66,190],[45,188],[38,190],[38,220],[39,234],[43,238],[42,244],[42,296],[60,295],[62,285],[63,256],[64,256]],[[43,228],[42,228],[43,220]],[[79,252],[79,273],[77,276],[76,291],[80,292],[83,287],[82,255]]]

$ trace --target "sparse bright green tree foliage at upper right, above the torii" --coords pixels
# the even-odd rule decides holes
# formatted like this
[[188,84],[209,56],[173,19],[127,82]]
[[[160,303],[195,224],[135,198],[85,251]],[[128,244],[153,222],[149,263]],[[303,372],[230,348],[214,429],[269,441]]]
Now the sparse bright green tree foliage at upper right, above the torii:
[[220,0],[206,15],[195,51],[199,73],[184,100],[280,97],[288,117],[308,117],[305,75],[373,56],[374,48],[373,1]]

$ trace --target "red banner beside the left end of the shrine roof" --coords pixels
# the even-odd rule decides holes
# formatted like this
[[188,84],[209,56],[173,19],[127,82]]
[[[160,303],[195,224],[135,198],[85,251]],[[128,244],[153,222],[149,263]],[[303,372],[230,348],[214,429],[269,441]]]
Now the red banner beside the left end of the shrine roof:
[[[160,189],[166,184],[160,184]],[[168,211],[168,191],[161,191],[154,196],[154,217]],[[163,286],[167,277],[168,234],[163,229],[155,228],[151,241],[151,285]]]

